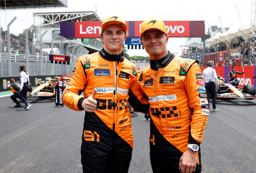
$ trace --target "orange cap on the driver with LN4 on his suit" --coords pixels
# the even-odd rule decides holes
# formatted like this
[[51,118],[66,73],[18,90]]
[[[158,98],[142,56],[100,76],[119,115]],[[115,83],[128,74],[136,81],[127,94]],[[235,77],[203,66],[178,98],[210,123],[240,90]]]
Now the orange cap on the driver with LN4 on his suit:
[[157,18],[151,18],[142,22],[140,26],[140,37],[143,35],[144,32],[148,30],[160,30],[168,35],[165,23]]

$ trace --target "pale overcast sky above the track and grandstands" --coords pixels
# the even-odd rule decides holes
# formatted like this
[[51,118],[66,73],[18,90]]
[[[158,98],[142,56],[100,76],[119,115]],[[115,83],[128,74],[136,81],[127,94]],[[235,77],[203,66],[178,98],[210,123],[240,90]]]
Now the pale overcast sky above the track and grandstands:
[[[0,10],[0,25],[7,29],[8,23],[16,16],[10,26],[10,33],[18,35],[34,24],[33,12],[81,12],[95,11],[103,20],[109,15],[119,15],[126,21],[143,21],[148,18],[159,18],[163,21],[197,21],[203,20],[207,32],[209,26],[239,27],[250,24],[251,1],[254,0],[68,0],[67,8],[41,8],[26,10]],[[125,3],[124,3],[125,2]],[[238,8],[238,11],[237,11]],[[239,22],[241,17],[241,23]],[[37,20],[37,19],[36,19]],[[185,47],[185,38],[169,38],[167,48],[171,53],[181,54]],[[128,50],[130,56],[148,56],[145,49]]]

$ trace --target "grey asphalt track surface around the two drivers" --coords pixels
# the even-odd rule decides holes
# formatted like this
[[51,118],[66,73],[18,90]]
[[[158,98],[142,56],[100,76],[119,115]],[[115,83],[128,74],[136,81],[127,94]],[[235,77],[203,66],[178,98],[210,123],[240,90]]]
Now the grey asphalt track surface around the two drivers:
[[[83,111],[39,100],[30,110],[0,97],[0,173],[81,173]],[[256,172],[256,99],[217,100],[201,144],[202,173]],[[152,173],[149,121],[132,117],[133,157],[129,173]],[[171,172],[171,171],[170,171]]]

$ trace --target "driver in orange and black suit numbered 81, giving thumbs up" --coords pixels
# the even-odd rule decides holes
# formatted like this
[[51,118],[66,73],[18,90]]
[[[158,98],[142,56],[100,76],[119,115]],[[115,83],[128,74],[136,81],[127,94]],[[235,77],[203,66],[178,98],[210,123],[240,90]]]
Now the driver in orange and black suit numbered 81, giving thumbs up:
[[128,172],[133,150],[128,101],[149,113],[148,100],[138,90],[137,67],[123,57],[126,29],[119,16],[102,21],[103,49],[77,60],[62,96],[67,107],[85,110],[81,163],[86,173]]

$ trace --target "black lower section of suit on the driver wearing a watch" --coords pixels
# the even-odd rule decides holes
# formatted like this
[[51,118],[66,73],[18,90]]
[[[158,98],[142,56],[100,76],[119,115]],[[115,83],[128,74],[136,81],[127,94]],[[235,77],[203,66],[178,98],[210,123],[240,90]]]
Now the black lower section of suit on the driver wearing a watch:
[[[150,162],[153,173],[180,173],[179,163],[183,153],[169,143],[150,120],[150,138],[154,135],[154,145],[150,142]],[[201,173],[201,152],[198,150],[199,163],[193,173]]]

